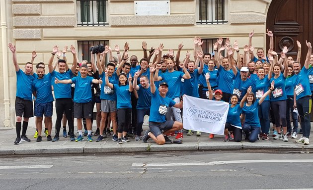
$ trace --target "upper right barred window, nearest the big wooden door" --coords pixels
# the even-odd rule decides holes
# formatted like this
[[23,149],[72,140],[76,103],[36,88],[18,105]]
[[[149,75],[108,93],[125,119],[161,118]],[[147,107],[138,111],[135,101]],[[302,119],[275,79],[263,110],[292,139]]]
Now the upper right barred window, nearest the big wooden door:
[[228,0],[197,0],[197,24],[227,24]]

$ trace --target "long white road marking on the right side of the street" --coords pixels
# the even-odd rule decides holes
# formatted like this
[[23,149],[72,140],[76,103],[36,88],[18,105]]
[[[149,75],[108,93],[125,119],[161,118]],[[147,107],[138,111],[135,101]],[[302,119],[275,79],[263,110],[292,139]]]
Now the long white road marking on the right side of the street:
[[224,165],[224,164],[241,164],[241,163],[282,163],[282,162],[313,162],[313,159],[291,159],[291,160],[229,160],[213,162],[178,162],[178,163],[133,163],[132,167],[157,167],[157,166],[203,166],[203,165]]

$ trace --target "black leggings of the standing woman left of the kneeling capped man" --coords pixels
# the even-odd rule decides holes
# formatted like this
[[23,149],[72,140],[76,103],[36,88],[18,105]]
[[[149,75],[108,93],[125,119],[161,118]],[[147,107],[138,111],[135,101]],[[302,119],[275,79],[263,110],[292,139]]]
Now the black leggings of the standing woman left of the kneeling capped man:
[[131,122],[132,108],[120,108],[117,110],[118,128],[117,133],[128,132]]

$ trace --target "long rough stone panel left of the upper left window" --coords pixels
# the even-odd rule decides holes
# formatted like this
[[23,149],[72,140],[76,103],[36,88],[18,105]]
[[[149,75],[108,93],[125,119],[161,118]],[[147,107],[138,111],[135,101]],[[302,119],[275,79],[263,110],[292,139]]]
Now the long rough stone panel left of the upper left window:
[[76,22],[76,16],[13,17],[14,27],[75,27]]

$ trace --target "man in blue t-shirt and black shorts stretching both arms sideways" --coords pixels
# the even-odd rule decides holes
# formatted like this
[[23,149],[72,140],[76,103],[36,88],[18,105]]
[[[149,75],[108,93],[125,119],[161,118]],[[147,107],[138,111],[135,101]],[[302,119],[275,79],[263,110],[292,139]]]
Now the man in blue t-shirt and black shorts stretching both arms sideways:
[[[83,141],[82,136],[82,118],[86,119],[87,124],[87,141],[92,142],[91,138],[91,118],[93,117],[92,113],[92,95],[91,95],[91,85],[101,84],[101,78],[93,79],[93,77],[87,76],[88,70],[87,65],[83,64],[80,66],[79,70],[80,75],[73,77],[72,79],[59,80],[55,77],[55,84],[71,84],[75,83],[75,94],[74,94],[74,117],[77,119],[77,129],[78,129],[78,138],[76,142]],[[69,119],[69,117],[67,117]],[[72,117],[71,117],[72,118]]]

